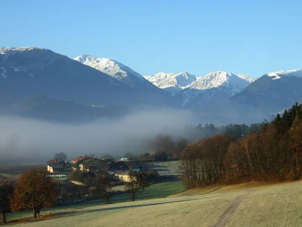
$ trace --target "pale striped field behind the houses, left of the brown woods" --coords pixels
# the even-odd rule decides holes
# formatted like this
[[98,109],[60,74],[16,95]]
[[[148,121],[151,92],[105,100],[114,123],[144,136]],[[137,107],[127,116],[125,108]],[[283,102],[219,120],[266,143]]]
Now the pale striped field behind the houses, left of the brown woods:
[[160,176],[178,176],[179,173],[179,162],[180,161],[163,161],[155,163],[144,163],[147,168],[156,169]]

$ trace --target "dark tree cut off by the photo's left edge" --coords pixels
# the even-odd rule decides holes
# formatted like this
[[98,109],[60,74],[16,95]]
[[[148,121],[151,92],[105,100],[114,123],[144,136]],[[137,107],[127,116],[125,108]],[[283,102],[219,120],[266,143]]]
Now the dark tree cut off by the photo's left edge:
[[0,224],[6,223],[6,212],[10,208],[10,198],[14,191],[14,182],[5,181],[0,182],[0,211],[2,212],[2,218],[0,218]]

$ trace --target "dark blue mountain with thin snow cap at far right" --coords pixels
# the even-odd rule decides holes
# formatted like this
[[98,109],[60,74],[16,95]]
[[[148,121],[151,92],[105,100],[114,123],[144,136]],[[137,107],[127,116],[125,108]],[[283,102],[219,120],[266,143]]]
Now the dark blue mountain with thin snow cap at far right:
[[266,113],[276,113],[295,101],[302,101],[302,69],[268,73],[231,98]]

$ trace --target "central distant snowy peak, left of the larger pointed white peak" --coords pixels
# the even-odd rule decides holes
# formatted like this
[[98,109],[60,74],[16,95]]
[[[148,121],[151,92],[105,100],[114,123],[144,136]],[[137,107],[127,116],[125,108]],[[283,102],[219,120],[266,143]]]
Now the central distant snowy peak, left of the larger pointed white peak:
[[152,82],[159,88],[162,88],[172,96],[175,96],[177,92],[185,89],[188,85],[195,82],[198,77],[191,75],[187,72],[182,73],[157,73],[155,75],[143,76],[148,81]]

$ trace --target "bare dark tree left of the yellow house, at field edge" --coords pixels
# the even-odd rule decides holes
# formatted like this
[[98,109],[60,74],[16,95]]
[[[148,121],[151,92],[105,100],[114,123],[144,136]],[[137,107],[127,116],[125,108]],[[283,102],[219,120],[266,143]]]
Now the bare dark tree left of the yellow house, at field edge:
[[98,194],[105,197],[105,204],[108,204],[112,183],[110,176],[106,172],[100,173],[96,177],[95,188]]

